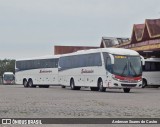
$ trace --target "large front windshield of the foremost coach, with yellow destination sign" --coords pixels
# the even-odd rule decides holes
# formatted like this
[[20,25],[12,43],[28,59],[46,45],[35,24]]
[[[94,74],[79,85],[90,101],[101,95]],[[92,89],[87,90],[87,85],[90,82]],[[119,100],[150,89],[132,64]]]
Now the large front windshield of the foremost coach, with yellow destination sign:
[[142,75],[141,59],[139,56],[114,55],[113,74],[136,77]]

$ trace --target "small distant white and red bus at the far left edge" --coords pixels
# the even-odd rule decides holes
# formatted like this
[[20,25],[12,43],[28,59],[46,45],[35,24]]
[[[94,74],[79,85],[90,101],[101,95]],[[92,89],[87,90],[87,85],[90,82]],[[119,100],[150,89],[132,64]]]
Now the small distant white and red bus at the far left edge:
[[13,72],[4,72],[3,74],[3,84],[12,85],[15,83],[15,77]]

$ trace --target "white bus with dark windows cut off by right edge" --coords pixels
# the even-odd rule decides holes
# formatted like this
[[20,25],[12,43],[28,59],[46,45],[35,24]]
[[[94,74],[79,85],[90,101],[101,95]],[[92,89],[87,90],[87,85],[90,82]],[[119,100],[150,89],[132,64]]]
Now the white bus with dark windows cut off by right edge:
[[143,87],[160,87],[160,58],[147,58],[143,66]]

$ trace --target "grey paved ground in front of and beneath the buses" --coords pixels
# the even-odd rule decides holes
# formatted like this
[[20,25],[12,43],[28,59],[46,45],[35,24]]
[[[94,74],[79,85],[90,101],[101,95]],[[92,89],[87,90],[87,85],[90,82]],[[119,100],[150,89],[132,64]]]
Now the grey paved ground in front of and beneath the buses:
[[1,118],[160,118],[160,88],[93,92],[0,85]]

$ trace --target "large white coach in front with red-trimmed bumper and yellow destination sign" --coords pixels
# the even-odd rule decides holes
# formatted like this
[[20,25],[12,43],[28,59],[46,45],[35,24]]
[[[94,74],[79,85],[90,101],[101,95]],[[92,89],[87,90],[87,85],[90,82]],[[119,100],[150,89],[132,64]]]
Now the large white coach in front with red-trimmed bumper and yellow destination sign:
[[106,88],[142,87],[142,65],[140,55],[133,50],[102,48],[82,50],[65,54],[59,58],[59,84],[72,90],[90,87],[92,91]]

